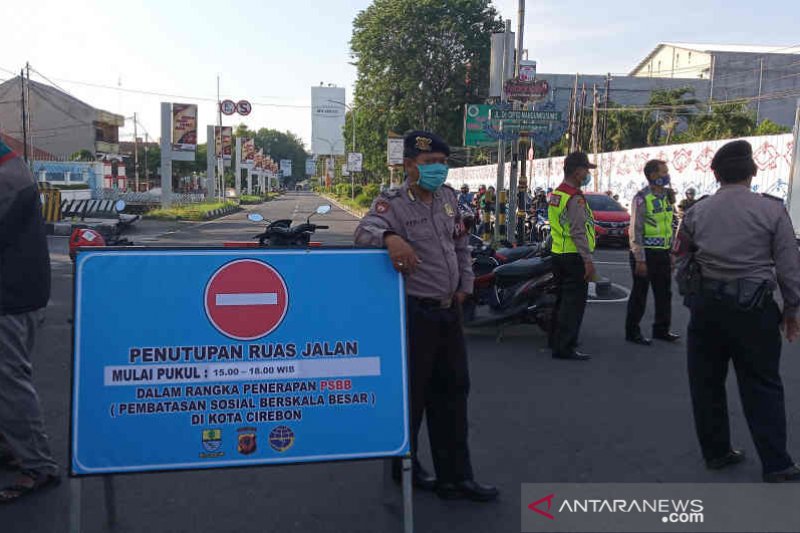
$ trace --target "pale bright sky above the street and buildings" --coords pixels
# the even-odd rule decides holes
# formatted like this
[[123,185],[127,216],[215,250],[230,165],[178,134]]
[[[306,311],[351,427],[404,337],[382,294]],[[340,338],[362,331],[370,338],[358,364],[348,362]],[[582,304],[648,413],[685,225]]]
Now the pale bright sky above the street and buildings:
[[[442,0],[446,1],[446,0]],[[311,136],[310,87],[335,83],[351,98],[352,21],[370,0],[43,0],[4,12],[0,68],[31,65],[86,102],[140,116],[159,135],[160,101],[223,97],[257,104],[252,128]],[[138,5],[137,5],[138,4]],[[226,5],[227,4],[227,5]],[[517,0],[494,5],[516,29]],[[661,41],[800,45],[796,0],[529,0],[525,47],[540,72],[624,73]],[[0,70],[0,79],[11,75]],[[38,76],[34,76],[38,78]],[[189,96],[166,98],[91,88],[82,81]],[[200,124],[215,120],[200,104]],[[241,120],[225,118],[226,125]],[[122,132],[132,137],[130,121]],[[201,127],[201,140],[205,128]]]

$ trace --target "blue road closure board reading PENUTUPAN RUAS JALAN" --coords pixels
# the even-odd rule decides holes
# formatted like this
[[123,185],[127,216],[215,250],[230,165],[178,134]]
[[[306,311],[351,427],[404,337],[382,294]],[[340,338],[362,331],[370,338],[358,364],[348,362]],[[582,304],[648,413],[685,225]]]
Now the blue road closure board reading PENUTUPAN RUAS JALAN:
[[82,252],[75,299],[74,476],[409,451],[383,250]]

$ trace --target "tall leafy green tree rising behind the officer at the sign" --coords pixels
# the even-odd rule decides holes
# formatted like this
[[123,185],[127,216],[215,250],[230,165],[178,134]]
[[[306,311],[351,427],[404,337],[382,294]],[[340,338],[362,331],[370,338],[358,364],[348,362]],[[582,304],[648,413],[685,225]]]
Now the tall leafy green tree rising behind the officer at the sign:
[[[367,174],[386,174],[390,131],[424,128],[461,144],[464,104],[488,95],[491,34],[502,29],[489,0],[375,0],[356,16],[350,47]],[[348,141],[350,128],[348,117]]]

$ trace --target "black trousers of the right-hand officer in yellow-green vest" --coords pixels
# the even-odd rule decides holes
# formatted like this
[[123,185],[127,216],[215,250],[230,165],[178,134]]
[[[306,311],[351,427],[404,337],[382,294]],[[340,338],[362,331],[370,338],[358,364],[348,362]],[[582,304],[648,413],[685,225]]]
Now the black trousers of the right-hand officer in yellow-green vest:
[[641,334],[639,323],[647,308],[647,289],[653,287],[656,316],[653,321],[653,335],[669,332],[672,321],[672,264],[669,250],[645,249],[647,277],[636,275],[636,259],[630,254],[633,288],[628,298],[628,313],[625,316],[625,336]]

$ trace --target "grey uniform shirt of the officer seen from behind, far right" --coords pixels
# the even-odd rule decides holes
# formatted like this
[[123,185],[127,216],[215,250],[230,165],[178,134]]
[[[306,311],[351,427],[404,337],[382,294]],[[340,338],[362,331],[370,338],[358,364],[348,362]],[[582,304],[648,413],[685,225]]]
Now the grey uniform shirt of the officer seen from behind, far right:
[[686,212],[680,228],[704,278],[777,281],[784,315],[800,308],[800,251],[780,198],[744,185],[723,185]]

